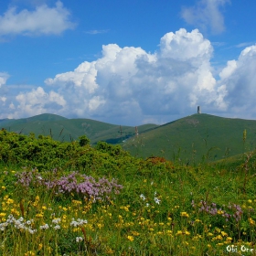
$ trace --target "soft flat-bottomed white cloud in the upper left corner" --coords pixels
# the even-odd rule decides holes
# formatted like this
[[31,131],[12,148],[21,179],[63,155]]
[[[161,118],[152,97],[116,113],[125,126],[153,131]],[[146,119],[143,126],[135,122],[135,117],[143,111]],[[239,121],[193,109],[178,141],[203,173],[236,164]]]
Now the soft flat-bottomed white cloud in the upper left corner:
[[16,12],[16,7],[10,7],[0,16],[0,36],[59,35],[75,27],[69,16],[69,11],[60,1],[52,8],[48,5],[38,5],[34,11],[24,9]]

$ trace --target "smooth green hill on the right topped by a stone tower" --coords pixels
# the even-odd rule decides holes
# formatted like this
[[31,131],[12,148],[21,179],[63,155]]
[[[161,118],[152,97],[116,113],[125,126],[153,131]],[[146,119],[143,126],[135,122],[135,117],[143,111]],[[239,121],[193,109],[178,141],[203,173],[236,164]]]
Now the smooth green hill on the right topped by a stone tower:
[[[246,139],[243,133],[246,130]],[[164,156],[193,163],[219,160],[255,149],[256,121],[194,114],[140,133],[123,148],[142,157]]]

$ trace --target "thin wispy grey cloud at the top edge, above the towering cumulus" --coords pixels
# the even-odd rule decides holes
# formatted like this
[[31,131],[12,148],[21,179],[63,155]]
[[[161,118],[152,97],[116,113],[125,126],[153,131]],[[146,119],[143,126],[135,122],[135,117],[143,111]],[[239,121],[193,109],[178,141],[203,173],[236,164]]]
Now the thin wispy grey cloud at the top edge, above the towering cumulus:
[[181,16],[190,25],[200,27],[202,30],[210,27],[213,34],[219,34],[225,30],[220,7],[228,3],[229,0],[200,0],[195,6],[183,7]]

